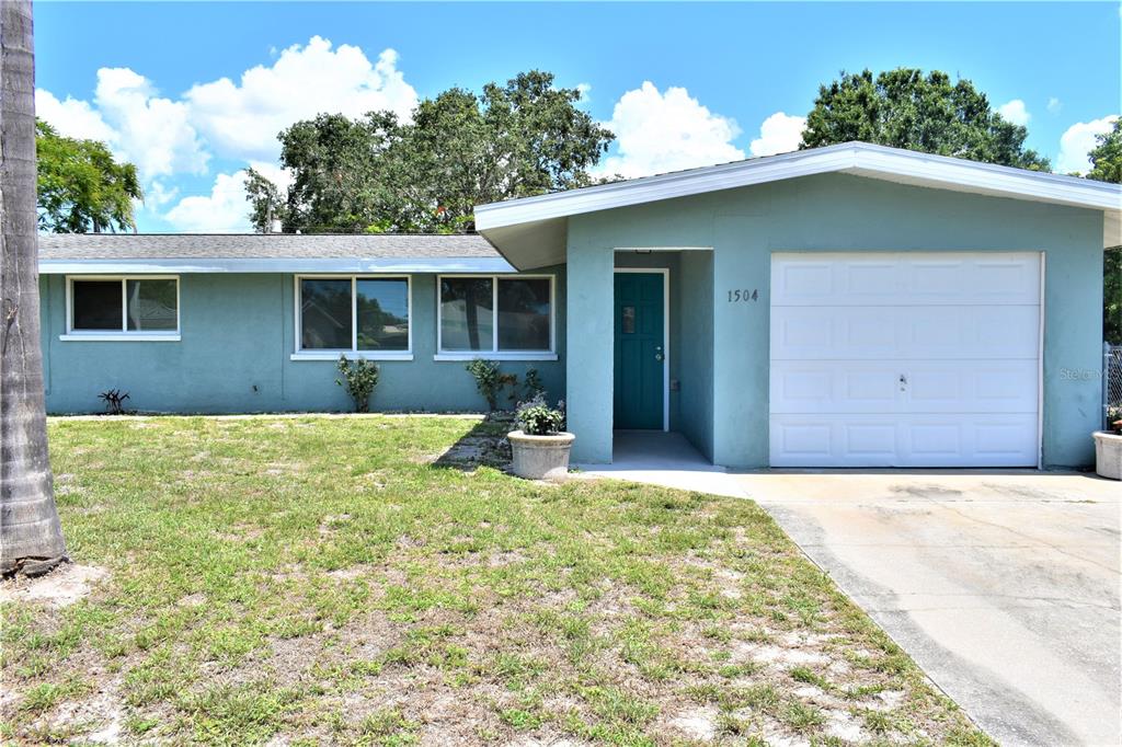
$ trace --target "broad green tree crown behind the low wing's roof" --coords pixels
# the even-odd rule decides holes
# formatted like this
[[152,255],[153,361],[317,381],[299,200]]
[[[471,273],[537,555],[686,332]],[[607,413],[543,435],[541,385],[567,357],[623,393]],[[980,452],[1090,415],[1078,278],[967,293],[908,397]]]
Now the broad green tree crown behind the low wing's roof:
[[286,232],[471,230],[477,204],[592,183],[588,169],[613,135],[579,100],[533,71],[481,95],[444,91],[422,101],[412,122],[389,112],[296,122],[279,135],[293,184],[282,197],[250,170],[250,218],[259,231],[272,219]]

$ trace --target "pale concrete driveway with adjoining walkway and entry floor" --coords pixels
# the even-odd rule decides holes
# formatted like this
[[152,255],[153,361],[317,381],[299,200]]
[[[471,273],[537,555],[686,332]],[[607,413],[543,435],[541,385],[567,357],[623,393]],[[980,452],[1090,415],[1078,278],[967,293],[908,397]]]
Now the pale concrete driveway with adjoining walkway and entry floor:
[[617,461],[585,473],[756,500],[999,741],[1120,744],[1122,485],[1031,470],[735,474],[672,436],[627,435],[622,450],[617,437]]

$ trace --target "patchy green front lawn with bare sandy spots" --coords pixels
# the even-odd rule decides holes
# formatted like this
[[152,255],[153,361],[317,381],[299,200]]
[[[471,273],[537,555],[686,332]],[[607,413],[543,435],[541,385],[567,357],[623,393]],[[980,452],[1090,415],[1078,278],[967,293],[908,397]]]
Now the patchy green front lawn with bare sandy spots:
[[0,737],[990,744],[751,501],[442,459],[478,418],[49,428],[109,577],[3,608]]

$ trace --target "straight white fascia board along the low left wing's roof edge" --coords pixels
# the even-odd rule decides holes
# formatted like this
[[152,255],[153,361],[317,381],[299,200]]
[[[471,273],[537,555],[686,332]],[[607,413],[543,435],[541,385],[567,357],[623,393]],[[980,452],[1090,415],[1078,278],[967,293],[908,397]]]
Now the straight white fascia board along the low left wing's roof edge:
[[515,273],[502,257],[383,259],[40,259],[40,275],[197,273]]

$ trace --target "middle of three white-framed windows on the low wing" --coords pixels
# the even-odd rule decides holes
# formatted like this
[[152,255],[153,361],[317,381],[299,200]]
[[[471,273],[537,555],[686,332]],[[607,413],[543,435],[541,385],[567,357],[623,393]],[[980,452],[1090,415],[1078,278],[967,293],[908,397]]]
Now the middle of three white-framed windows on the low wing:
[[296,278],[296,352],[407,356],[407,277],[300,276]]

